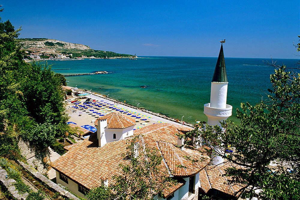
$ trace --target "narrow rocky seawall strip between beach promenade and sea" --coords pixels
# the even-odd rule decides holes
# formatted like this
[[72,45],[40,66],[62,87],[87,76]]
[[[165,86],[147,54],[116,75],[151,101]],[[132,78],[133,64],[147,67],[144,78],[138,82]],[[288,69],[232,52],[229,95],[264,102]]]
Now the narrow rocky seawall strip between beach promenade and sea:
[[[74,87],[71,87],[72,89],[75,89]],[[116,100],[116,99],[113,99],[113,98],[110,98],[110,97],[107,97],[106,95],[102,95],[100,93],[95,93],[95,92],[90,92],[90,91],[84,91],[85,93],[88,93],[89,95],[94,95],[94,96],[97,96],[97,97],[100,97],[100,98],[103,98],[103,99],[106,99],[106,100],[109,100],[109,101],[113,101],[113,102],[117,102],[118,104],[122,104],[124,106],[127,106],[127,107],[130,107],[130,108],[133,108],[133,109],[137,109],[137,110],[140,110],[140,111],[143,111],[145,113],[149,113],[149,114],[152,114],[154,116],[157,116],[159,118],[163,118],[163,119],[166,119],[166,120],[169,120],[169,121],[172,121],[172,122],[175,122],[176,124],[179,124],[179,125],[184,125],[184,126],[188,126],[188,127],[194,127],[193,124],[189,123],[189,122],[182,122],[181,120],[178,119],[178,121],[172,117],[169,117],[169,116],[166,116],[164,114],[161,114],[161,113],[155,113],[155,112],[152,112],[151,110],[147,110],[147,109],[138,109],[136,106],[133,106],[131,104],[128,104],[128,103],[125,103],[125,102],[122,102],[122,101],[119,101],[119,100]],[[78,98],[78,97],[72,97],[72,98],[69,98],[69,99],[73,99],[73,98]]]

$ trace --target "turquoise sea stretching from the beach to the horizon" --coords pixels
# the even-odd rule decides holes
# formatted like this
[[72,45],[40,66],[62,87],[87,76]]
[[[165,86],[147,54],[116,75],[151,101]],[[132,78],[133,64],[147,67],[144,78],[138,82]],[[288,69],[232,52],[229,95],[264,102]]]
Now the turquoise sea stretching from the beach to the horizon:
[[[107,71],[109,74],[66,77],[68,86],[108,95],[119,101],[144,107],[186,122],[207,121],[203,105],[210,101],[211,79],[217,57],[150,57],[128,59],[85,59],[48,61],[63,75]],[[294,66],[296,59],[273,59],[279,65]],[[255,104],[265,96],[274,68],[264,58],[226,58],[227,104]],[[67,69],[67,70],[57,70]],[[140,86],[146,85],[146,88]],[[102,89],[100,89],[102,88]]]

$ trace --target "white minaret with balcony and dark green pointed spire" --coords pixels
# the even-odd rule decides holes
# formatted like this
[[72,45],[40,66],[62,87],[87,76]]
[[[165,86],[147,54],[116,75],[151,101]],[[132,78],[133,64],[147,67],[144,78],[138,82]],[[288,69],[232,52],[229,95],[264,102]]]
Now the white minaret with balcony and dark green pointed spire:
[[[227,86],[223,44],[221,44],[220,54],[211,81],[210,103],[204,104],[204,114],[207,116],[207,123],[209,125],[220,126],[220,122],[226,120],[232,114],[232,106],[226,104]],[[224,150],[217,147],[214,147],[214,150],[216,153],[212,155],[211,163],[214,165],[223,163],[224,159],[217,152],[223,153]]]

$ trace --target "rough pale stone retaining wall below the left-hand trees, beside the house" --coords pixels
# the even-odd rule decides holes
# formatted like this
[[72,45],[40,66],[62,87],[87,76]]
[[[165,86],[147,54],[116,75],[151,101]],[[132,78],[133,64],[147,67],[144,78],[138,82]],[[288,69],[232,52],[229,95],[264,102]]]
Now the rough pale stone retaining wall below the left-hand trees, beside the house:
[[44,149],[31,147],[29,142],[26,142],[21,138],[19,139],[18,146],[21,151],[21,155],[26,158],[29,165],[38,170],[41,174],[47,172],[47,169],[43,164],[43,160],[44,163],[49,163],[50,153],[48,147]]

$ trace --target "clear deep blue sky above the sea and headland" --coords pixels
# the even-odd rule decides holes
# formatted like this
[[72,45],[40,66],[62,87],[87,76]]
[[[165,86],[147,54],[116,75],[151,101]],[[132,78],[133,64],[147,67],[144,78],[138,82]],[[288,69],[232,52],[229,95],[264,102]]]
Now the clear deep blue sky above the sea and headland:
[[1,1],[20,38],[148,56],[296,58],[300,0]]

